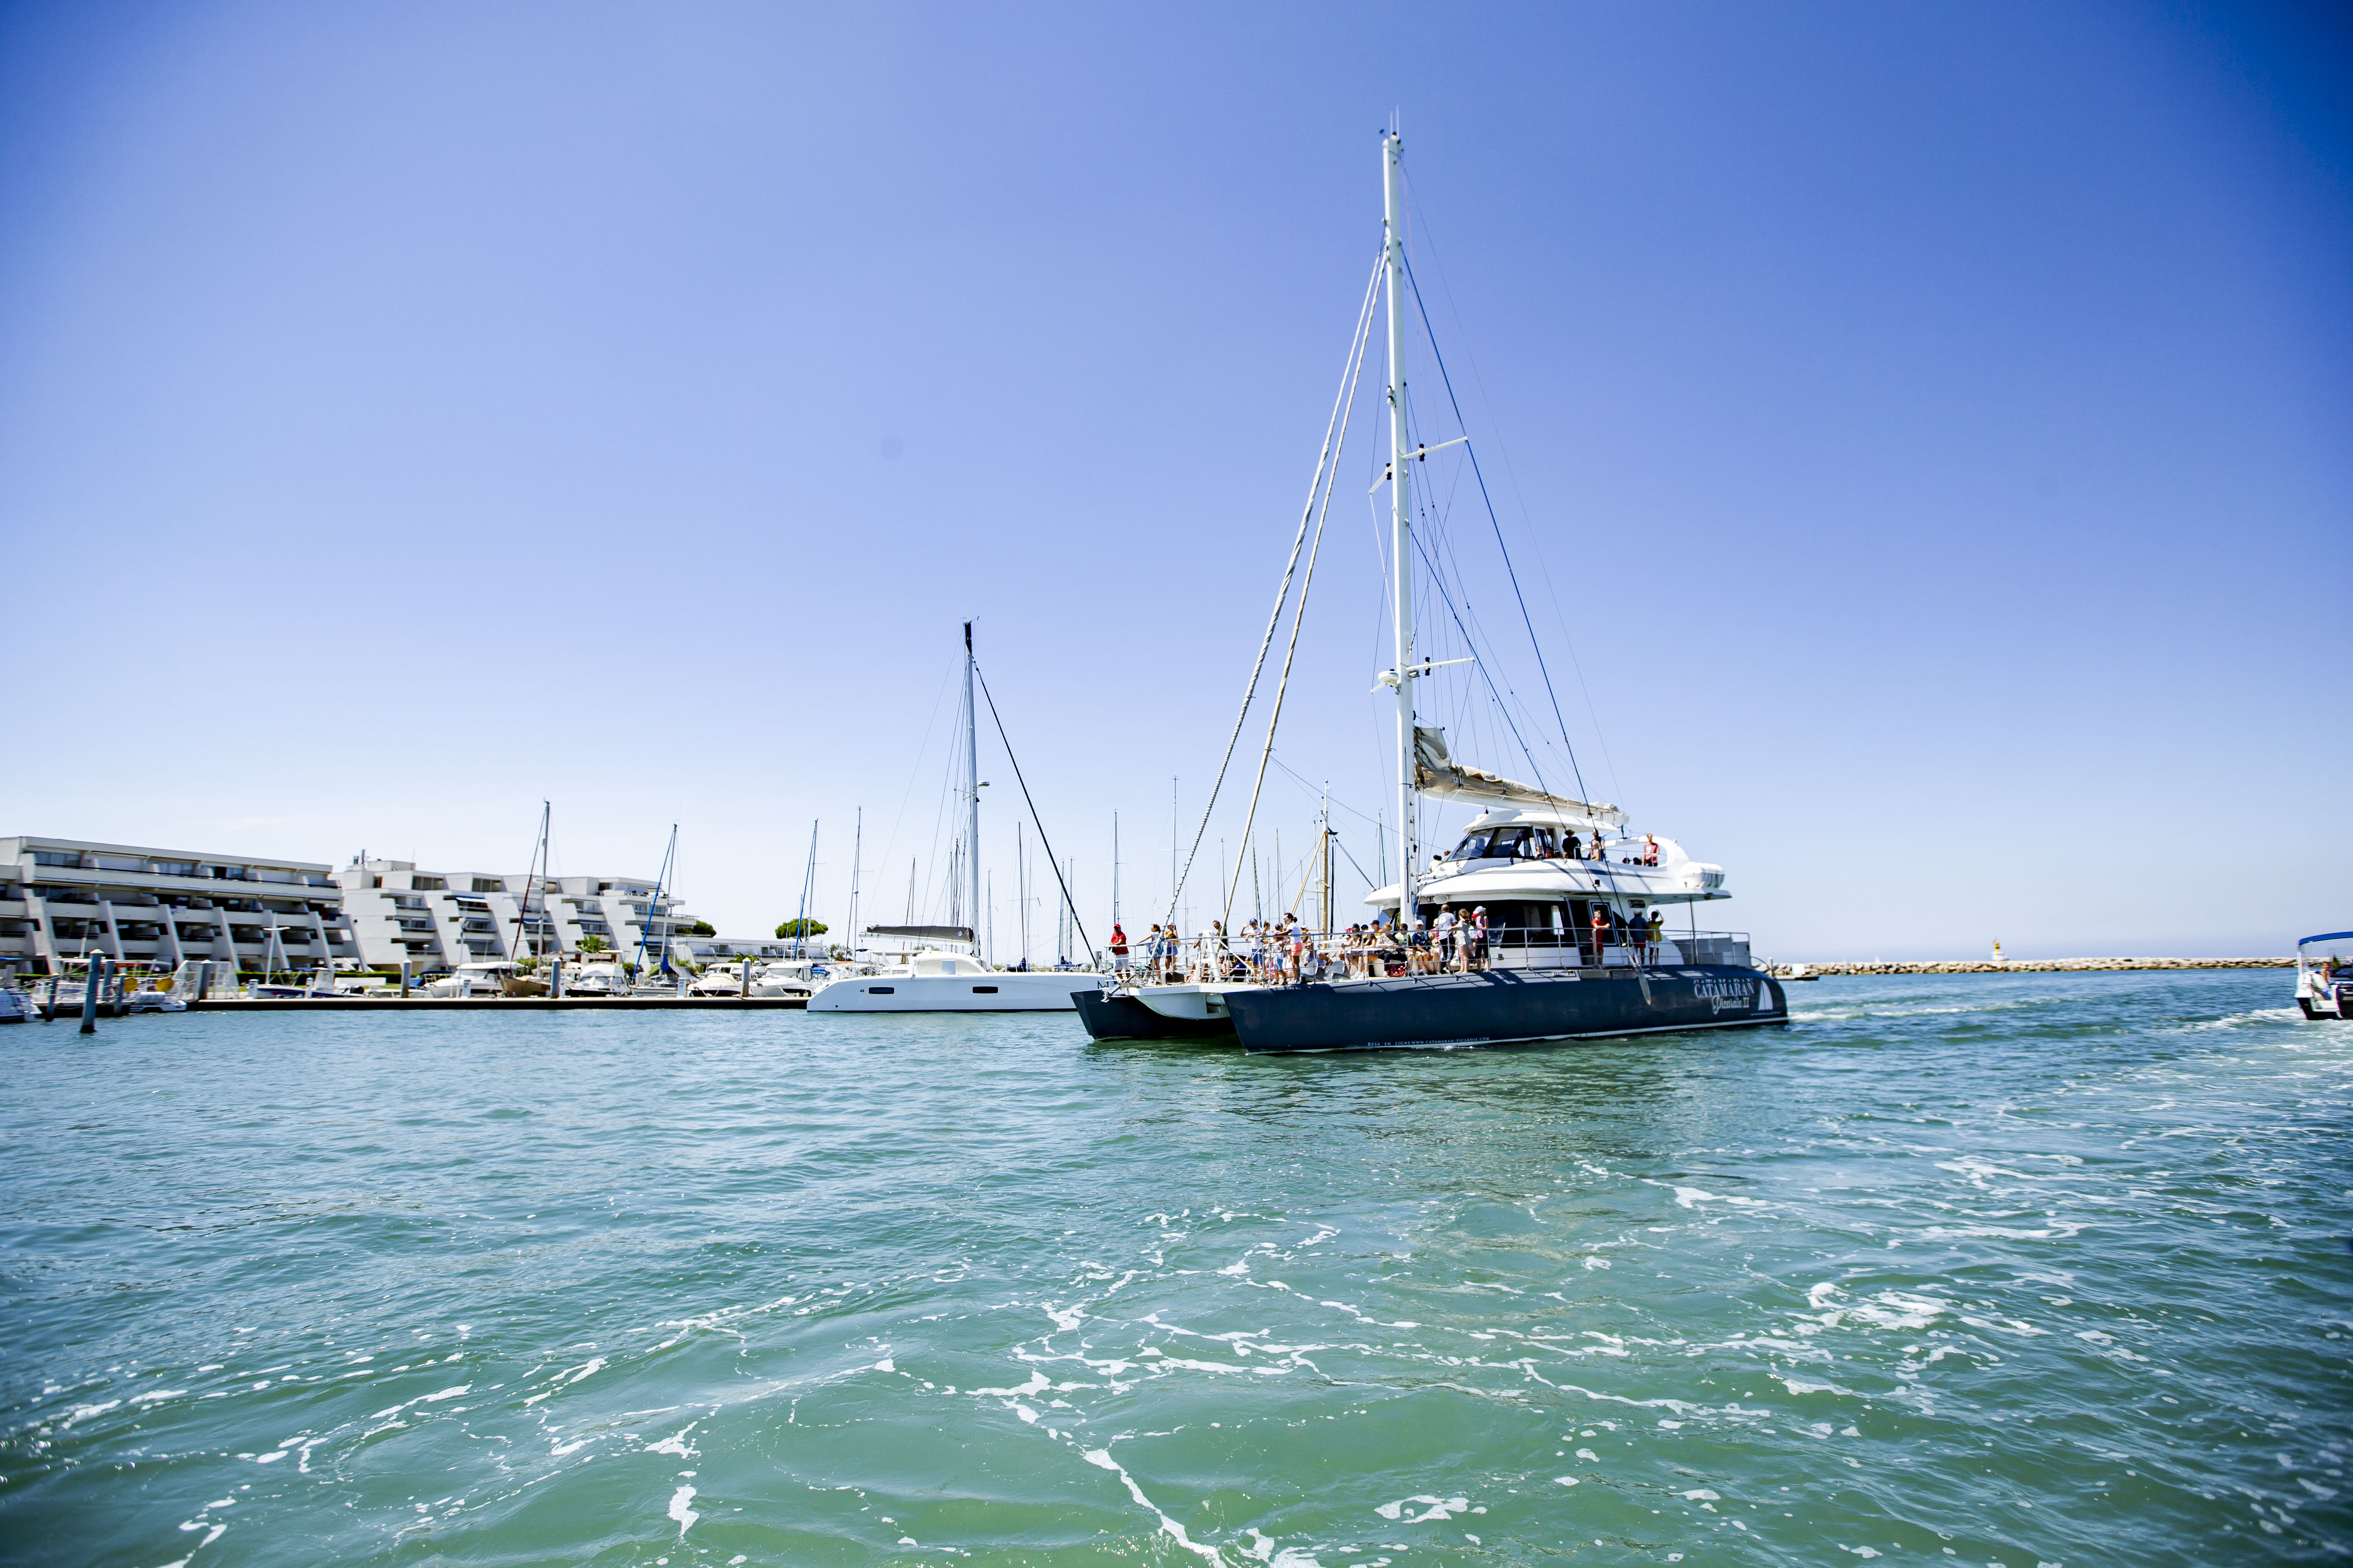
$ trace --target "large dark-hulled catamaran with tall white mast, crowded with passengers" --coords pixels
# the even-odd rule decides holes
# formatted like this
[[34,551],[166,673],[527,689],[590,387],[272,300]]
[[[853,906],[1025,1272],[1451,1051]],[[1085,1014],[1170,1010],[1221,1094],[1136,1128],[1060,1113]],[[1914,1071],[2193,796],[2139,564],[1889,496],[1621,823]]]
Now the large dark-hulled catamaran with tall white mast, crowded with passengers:
[[[1574,799],[1541,780],[1520,783],[1457,762],[1445,729],[1424,724],[1417,712],[1417,689],[1440,663],[1461,661],[1417,654],[1412,470],[1440,447],[1459,442],[1417,447],[1407,416],[1405,296],[1412,280],[1402,228],[1402,155],[1400,136],[1384,132],[1381,261],[1365,294],[1332,425],[1344,442],[1346,409],[1353,409],[1353,376],[1362,364],[1379,303],[1388,339],[1386,597],[1395,665],[1377,677],[1374,691],[1395,693],[1393,851],[1400,877],[1365,898],[1381,912],[1369,936],[1325,931],[1308,938],[1325,954],[1334,947],[1346,954],[1346,978],[1308,980],[1299,971],[1271,976],[1266,964],[1233,959],[1228,938],[1217,933],[1198,943],[1200,952],[1181,973],[1162,964],[1146,983],[1080,992],[1080,1016],[1096,1039],[1238,1037],[1252,1051],[1468,1046],[1786,1023],[1788,1001],[1779,983],[1751,964],[1746,936],[1699,931],[1697,905],[1732,896],[1725,891],[1720,865],[1694,860],[1673,839],[1628,835],[1626,813],[1612,804]],[[1339,458],[1332,430],[1318,461],[1318,487],[1311,487],[1311,515],[1318,510],[1318,489],[1322,508],[1329,510],[1329,475]],[[1320,536],[1318,522],[1318,543]],[[1292,548],[1292,564],[1297,562],[1299,543]],[[1313,552],[1306,581],[1313,581]],[[1289,592],[1289,569],[1282,592]],[[1299,592],[1304,611],[1304,583]],[[1278,595],[1278,618],[1282,604],[1285,597]],[[1268,623],[1268,644],[1273,632],[1275,621]],[[1297,621],[1292,646],[1297,646]],[[1252,670],[1242,698],[1245,715],[1264,663],[1266,644],[1259,649],[1259,668]],[[1287,675],[1285,658],[1285,682],[1275,689],[1275,719]],[[1275,719],[1268,722],[1268,755]],[[1228,762],[1231,755],[1233,741],[1226,750]],[[1264,773],[1261,759],[1261,783]],[[1480,806],[1461,839],[1428,863],[1419,823],[1424,797]],[[1202,823],[1207,825],[1207,813]],[[1245,823],[1245,837],[1247,830]],[[1228,917],[1231,910],[1228,889]],[[1682,919],[1671,922],[1668,910]],[[1471,929],[1485,936],[1473,943]],[[1475,957],[1452,957],[1461,954],[1464,945]],[[1329,976],[1327,964],[1318,969]]]

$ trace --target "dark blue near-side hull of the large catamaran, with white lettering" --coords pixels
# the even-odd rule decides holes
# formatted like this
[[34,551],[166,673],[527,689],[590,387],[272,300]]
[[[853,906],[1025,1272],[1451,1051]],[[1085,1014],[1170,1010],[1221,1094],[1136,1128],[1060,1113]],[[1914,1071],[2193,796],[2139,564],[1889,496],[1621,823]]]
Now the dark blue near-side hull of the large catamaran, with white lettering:
[[1755,969],[1515,971],[1228,992],[1249,1051],[1379,1051],[1788,1023]]

